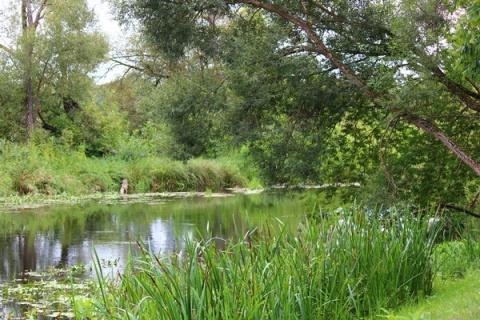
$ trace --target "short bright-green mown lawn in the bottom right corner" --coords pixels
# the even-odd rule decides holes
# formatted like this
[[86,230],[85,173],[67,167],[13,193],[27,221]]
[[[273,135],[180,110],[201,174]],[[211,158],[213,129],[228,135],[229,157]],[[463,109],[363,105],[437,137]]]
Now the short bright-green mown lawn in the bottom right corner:
[[480,319],[480,270],[469,271],[456,280],[437,279],[432,295],[418,304],[375,318],[390,320],[477,320]]

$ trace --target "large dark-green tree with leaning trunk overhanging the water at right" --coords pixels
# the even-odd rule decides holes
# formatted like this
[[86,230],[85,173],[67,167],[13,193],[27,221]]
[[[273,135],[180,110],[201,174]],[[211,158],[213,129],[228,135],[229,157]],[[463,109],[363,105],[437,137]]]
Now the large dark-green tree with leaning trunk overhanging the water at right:
[[[380,199],[386,190],[392,201],[423,203],[466,202],[477,191],[476,33],[466,31],[476,4],[117,3],[149,50],[182,72],[218,75],[220,90],[199,85],[219,104],[196,116],[224,119],[209,132],[246,146],[265,181],[361,182]],[[163,36],[173,29],[175,41]]]

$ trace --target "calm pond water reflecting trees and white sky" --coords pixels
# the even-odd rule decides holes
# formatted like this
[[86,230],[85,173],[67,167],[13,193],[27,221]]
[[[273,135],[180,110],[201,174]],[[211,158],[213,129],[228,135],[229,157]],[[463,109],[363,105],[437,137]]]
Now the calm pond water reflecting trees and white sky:
[[1,213],[0,282],[25,270],[92,266],[94,251],[105,268],[121,268],[136,240],[166,254],[199,234],[235,238],[255,227],[276,226],[278,220],[295,225],[303,212],[298,197],[262,193],[143,203],[125,199]]

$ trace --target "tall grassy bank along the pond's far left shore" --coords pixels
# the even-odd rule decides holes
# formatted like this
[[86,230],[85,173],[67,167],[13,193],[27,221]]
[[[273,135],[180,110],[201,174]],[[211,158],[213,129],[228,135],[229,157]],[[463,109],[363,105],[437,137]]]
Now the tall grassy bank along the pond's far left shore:
[[243,186],[238,165],[229,160],[196,159],[186,163],[151,155],[89,158],[83,150],[49,143],[0,143],[0,196],[23,194],[85,195],[118,192],[219,191]]

